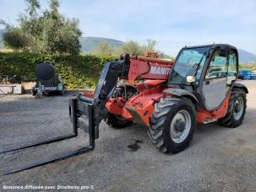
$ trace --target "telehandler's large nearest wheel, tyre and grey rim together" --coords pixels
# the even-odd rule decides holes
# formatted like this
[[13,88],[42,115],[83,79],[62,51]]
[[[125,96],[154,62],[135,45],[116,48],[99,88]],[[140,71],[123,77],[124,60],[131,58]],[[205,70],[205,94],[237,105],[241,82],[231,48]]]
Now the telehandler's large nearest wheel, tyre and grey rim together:
[[148,135],[161,152],[177,153],[188,147],[195,125],[195,109],[189,99],[161,99],[155,104]]

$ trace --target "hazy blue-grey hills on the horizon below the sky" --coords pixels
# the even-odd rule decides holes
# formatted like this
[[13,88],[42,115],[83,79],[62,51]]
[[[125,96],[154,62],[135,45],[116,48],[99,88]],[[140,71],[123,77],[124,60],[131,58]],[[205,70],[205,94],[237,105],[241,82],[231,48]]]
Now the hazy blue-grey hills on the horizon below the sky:
[[[3,33],[4,30],[0,29],[0,48],[3,47]],[[121,40],[113,40],[109,38],[102,38],[102,37],[82,37],[80,38],[80,43],[82,45],[81,52],[82,53],[90,53],[93,51],[96,45],[98,45],[100,42],[106,42],[112,47],[119,47],[124,44],[123,41]],[[251,64],[251,63],[256,63],[256,55],[239,49],[238,50],[239,54],[239,62],[241,64]]]

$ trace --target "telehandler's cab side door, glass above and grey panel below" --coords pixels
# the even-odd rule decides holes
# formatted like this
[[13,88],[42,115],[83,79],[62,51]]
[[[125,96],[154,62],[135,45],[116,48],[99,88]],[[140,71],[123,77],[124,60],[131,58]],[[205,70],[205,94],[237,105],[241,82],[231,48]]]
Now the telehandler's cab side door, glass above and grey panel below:
[[210,58],[202,89],[204,106],[207,110],[219,108],[226,98],[227,66],[226,51],[216,48]]

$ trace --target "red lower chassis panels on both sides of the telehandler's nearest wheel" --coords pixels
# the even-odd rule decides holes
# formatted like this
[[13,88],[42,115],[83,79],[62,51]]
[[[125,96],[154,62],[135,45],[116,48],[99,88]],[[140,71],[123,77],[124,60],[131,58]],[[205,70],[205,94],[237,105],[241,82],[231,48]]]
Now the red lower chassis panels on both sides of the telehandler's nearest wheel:
[[[118,99],[110,99],[106,104],[106,108],[112,114],[122,115],[127,120],[134,120],[143,125],[150,125],[150,116],[153,114],[155,109],[155,103],[163,97],[162,91],[166,87],[151,88],[149,91],[140,93],[133,98],[129,99],[128,102],[123,103],[123,107],[118,104]],[[205,109],[199,109],[196,114],[196,120],[198,123],[204,123],[204,120],[220,119],[226,115],[228,108],[228,101],[230,95],[226,97],[223,104],[219,109],[207,111]]]

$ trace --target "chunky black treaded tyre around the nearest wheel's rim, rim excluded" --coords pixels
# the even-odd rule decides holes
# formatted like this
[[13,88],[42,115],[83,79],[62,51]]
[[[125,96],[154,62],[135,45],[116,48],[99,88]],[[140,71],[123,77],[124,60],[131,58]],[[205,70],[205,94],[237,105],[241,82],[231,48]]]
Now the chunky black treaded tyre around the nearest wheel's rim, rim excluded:
[[[172,139],[170,126],[175,115],[181,111],[188,112],[191,124],[188,136],[183,141],[177,143]],[[166,98],[161,99],[159,103],[155,104],[155,110],[150,118],[148,135],[155,147],[159,148],[161,152],[177,153],[189,146],[190,141],[193,139],[195,127],[195,108],[191,100],[185,98]]]

